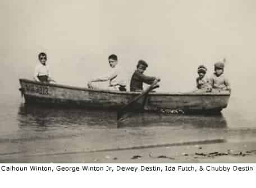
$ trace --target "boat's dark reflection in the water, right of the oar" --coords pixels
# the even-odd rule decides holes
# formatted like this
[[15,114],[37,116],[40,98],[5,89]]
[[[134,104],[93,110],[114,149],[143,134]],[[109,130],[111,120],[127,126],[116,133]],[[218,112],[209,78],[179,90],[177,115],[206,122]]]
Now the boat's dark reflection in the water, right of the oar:
[[127,126],[184,126],[185,128],[226,128],[227,121],[220,114],[207,115],[164,115],[157,113],[138,113],[124,121],[118,122],[119,127]]

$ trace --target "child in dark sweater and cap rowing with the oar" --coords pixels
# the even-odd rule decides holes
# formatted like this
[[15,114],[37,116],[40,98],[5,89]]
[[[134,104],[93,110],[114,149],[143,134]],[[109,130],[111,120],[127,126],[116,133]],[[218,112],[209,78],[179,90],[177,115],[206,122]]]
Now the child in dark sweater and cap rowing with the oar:
[[144,60],[139,60],[137,69],[131,77],[130,91],[141,92],[143,91],[143,83],[152,84],[156,79],[160,81],[157,77],[149,77],[143,74],[147,67],[148,64]]

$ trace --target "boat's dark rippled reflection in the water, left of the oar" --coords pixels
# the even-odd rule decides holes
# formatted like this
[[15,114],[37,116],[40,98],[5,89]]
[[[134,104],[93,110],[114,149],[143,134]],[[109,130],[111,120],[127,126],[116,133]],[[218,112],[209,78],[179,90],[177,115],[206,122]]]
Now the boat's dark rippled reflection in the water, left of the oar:
[[54,126],[104,126],[116,128],[116,112],[54,108],[33,104],[21,104],[18,113],[20,126],[40,128]]

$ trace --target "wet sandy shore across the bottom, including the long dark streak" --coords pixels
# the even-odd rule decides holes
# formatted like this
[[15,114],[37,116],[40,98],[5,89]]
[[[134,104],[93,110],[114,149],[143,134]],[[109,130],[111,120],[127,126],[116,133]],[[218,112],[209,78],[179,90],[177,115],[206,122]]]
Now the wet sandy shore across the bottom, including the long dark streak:
[[[179,142],[168,139],[164,130],[159,137],[145,134],[137,137],[129,130],[85,130],[51,131],[45,134],[22,134],[19,138],[6,135],[1,138],[0,162],[88,162],[88,163],[198,163],[198,162],[256,162],[256,141],[247,139],[239,142],[220,137],[189,138],[181,137]],[[141,134],[141,130],[138,130]],[[86,135],[86,136],[85,136]],[[90,136],[89,136],[90,135]],[[160,136],[161,135],[161,136]],[[246,136],[246,134],[244,134]],[[163,139],[166,137],[166,139]],[[141,142],[136,139],[141,139]],[[133,142],[131,142],[133,140]],[[158,140],[156,142],[156,140]],[[89,144],[90,143],[90,144]],[[127,144],[129,143],[129,144]]]

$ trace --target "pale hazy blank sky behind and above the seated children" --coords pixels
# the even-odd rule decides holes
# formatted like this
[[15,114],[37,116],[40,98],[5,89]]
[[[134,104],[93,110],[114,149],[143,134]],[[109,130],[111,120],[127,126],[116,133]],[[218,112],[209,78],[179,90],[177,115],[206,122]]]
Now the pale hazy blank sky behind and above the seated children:
[[0,0],[0,84],[16,92],[45,51],[59,83],[84,87],[115,53],[129,74],[144,59],[161,90],[188,91],[199,64],[209,75],[225,57],[234,92],[255,95],[255,10],[253,0]]

